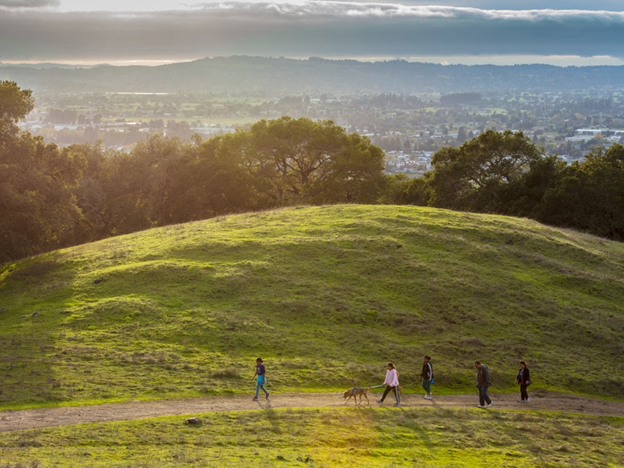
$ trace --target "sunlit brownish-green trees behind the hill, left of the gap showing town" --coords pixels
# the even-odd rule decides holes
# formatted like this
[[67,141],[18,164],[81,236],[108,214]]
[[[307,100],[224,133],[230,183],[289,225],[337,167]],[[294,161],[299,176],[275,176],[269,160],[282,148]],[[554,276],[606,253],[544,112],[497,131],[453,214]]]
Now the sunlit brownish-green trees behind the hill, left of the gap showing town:
[[[29,109],[30,93],[6,89]],[[16,127],[2,138],[0,261],[230,212],[374,203],[384,180],[380,148],[332,121],[282,117],[190,143],[153,135],[129,153],[58,148]]]

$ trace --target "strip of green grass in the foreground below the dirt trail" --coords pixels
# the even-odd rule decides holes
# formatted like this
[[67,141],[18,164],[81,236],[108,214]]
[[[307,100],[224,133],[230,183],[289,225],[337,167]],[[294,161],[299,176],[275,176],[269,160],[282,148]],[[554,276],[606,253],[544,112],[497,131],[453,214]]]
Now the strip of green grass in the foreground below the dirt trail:
[[[0,433],[0,467],[616,467],[622,418],[267,409]],[[307,461],[306,461],[307,460]]]

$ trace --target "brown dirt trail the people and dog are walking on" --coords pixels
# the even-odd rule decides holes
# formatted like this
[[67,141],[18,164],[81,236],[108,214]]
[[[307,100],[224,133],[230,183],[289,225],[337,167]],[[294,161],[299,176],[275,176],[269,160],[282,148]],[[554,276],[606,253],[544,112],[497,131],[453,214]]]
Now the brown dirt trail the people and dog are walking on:
[[[376,399],[379,396],[380,394],[373,394],[373,397],[371,397],[371,407],[379,406],[376,403]],[[390,395],[390,397],[391,396],[392,395]],[[492,392],[491,397],[494,402],[493,407],[486,411],[530,408],[577,414],[595,414],[600,416],[624,416],[624,402],[594,400],[591,398],[540,391],[531,393],[531,401],[529,403],[518,402],[518,395],[497,395],[495,392]],[[383,407],[392,408],[392,403],[391,399],[387,399]],[[403,408],[474,408],[476,404],[479,404],[479,397],[476,393],[474,395],[434,395],[433,400],[424,400],[422,395],[403,395],[401,400]],[[245,409],[342,406],[354,406],[353,400],[345,405],[344,400],[342,400],[342,393],[327,392],[275,393],[271,395],[269,400],[260,397],[258,401],[252,401],[249,396],[236,395],[228,397],[193,398],[187,400],[97,404],[80,407],[4,410],[0,411],[0,432],[104,421],[146,419],[156,416],[195,416],[210,412]],[[366,400],[364,400],[363,406],[366,406]]]

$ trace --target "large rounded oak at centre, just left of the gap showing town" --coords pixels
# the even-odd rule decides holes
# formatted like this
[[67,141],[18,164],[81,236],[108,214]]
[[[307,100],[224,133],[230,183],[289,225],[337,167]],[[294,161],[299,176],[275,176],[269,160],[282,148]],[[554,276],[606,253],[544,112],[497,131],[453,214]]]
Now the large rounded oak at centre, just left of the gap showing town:
[[224,136],[221,150],[275,205],[371,202],[379,195],[383,151],[332,121],[260,120]]

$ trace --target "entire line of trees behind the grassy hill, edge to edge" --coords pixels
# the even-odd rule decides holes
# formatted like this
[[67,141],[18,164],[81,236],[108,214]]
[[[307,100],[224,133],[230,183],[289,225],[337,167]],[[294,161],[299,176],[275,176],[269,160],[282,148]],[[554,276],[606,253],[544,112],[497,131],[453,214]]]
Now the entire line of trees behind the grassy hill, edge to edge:
[[260,120],[202,140],[160,135],[129,153],[59,148],[20,131],[32,92],[0,82],[0,262],[151,227],[290,205],[397,203],[530,217],[624,239],[624,147],[545,157],[522,132],[442,148],[419,179],[332,121]]

